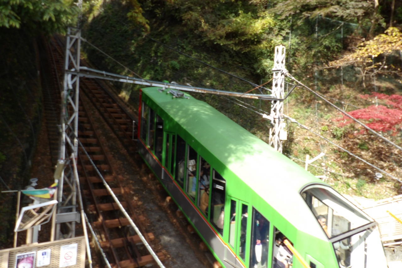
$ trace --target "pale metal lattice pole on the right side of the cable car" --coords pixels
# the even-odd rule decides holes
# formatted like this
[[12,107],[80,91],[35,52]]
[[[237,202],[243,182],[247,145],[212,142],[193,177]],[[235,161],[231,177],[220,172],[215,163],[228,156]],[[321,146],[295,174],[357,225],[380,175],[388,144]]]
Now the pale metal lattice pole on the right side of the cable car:
[[273,128],[269,129],[269,145],[282,153],[282,140],[287,140],[287,130],[283,120],[283,98],[285,97],[285,54],[286,47],[277,45],[275,47],[275,58],[272,82],[272,95],[277,99],[272,101],[270,119]]

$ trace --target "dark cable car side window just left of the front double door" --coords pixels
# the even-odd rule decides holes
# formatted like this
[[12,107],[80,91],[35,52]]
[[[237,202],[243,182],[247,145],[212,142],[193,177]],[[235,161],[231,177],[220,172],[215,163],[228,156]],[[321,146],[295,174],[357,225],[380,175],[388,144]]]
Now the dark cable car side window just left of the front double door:
[[213,180],[211,188],[211,216],[210,222],[223,235],[225,219],[225,190],[226,180],[215,170],[213,170]]

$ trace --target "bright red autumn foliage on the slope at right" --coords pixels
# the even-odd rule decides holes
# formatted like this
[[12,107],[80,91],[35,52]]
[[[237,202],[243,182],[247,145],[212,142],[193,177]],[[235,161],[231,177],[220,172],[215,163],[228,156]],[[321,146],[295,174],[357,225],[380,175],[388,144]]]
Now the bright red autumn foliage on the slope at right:
[[[396,134],[397,126],[402,124],[402,96],[372,93],[371,95],[360,95],[360,97],[362,99],[377,97],[377,99],[385,100],[386,104],[394,107],[394,109],[390,109],[384,105],[371,105],[367,108],[351,111],[348,114],[356,119],[367,121],[368,123],[366,125],[375,131],[391,130]],[[339,124],[340,127],[353,123],[353,120],[346,115],[334,121],[341,120],[343,120],[343,122]]]

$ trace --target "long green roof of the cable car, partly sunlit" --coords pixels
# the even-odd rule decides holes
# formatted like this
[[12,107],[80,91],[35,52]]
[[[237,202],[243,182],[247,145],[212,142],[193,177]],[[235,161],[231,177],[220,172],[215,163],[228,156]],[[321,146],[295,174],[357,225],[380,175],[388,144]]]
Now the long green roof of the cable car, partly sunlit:
[[[187,93],[189,99],[173,98],[167,90],[158,89],[148,87],[142,91],[287,221],[300,231],[326,240],[299,194],[310,183],[322,184],[320,179],[211,105]],[[314,219],[317,226],[308,219]]]

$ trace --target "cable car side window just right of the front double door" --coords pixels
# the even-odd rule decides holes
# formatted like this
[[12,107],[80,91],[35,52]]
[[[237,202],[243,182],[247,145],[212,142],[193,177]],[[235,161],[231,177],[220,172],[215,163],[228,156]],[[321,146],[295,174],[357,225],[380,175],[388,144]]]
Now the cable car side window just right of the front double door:
[[252,209],[250,268],[267,268],[269,221],[255,208]]

